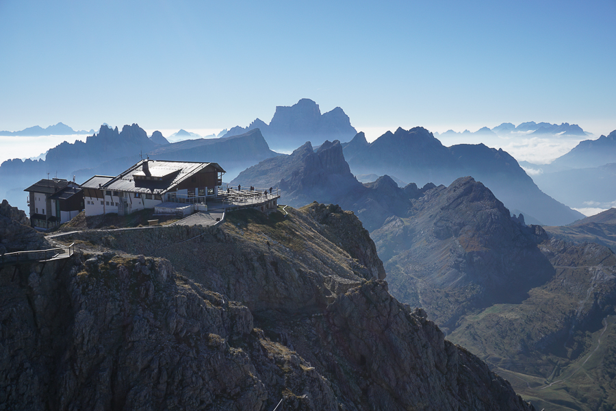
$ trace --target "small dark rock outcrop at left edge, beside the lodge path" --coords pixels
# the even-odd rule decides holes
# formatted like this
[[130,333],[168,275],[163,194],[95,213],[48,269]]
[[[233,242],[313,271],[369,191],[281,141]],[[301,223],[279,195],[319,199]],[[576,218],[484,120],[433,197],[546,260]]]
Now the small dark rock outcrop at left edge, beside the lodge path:
[[0,204],[0,254],[44,248],[50,248],[49,242],[30,227],[25,212],[3,200]]

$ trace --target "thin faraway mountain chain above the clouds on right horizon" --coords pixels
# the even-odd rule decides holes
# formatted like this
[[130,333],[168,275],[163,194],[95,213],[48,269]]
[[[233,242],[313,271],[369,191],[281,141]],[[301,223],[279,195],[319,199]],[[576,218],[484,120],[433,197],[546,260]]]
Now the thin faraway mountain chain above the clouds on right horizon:
[[464,132],[454,132],[453,130],[448,130],[442,134],[434,133],[436,137],[453,137],[453,136],[511,136],[512,134],[528,134],[533,136],[587,136],[588,133],[585,132],[582,127],[577,124],[569,124],[562,123],[558,124],[550,124],[550,123],[535,123],[535,121],[528,121],[527,123],[521,123],[517,125],[513,125],[512,123],[502,123],[501,125],[497,125],[492,129],[488,127],[481,127],[476,132],[470,132],[468,130],[464,130]]

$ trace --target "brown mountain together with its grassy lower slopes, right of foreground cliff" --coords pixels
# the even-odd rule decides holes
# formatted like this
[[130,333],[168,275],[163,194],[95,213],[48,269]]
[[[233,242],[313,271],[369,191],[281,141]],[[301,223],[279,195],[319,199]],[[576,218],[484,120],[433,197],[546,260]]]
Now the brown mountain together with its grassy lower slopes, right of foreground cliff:
[[[614,253],[548,238],[470,177],[411,203],[408,216],[371,233],[392,295],[424,308],[541,408],[609,409],[601,406],[616,399]],[[606,232],[612,221],[606,212],[555,228]]]

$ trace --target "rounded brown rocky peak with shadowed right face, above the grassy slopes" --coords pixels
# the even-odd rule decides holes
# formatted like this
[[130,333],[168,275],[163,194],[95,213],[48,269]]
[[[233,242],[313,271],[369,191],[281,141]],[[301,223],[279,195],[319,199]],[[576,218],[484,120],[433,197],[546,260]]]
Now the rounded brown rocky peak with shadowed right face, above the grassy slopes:
[[392,293],[454,327],[495,302],[515,303],[554,270],[537,249],[541,227],[526,227],[471,177],[413,201],[409,216],[372,232]]

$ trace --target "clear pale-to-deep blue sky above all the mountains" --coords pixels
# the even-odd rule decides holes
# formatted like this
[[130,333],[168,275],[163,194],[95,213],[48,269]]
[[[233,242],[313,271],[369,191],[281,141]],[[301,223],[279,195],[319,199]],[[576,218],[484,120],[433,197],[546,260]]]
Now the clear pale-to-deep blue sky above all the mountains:
[[0,129],[269,122],[616,129],[616,0],[0,0]]

